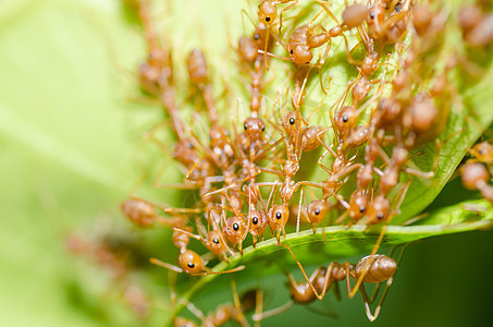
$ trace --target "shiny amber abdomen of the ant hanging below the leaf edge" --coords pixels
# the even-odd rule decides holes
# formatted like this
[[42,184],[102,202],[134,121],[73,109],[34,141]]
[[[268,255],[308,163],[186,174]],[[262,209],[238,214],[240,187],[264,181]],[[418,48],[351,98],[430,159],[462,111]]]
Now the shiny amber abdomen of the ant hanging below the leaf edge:
[[361,258],[355,268],[355,277],[358,278],[370,261],[368,270],[362,279],[363,282],[382,282],[394,276],[397,264],[392,257],[383,254],[368,255]]

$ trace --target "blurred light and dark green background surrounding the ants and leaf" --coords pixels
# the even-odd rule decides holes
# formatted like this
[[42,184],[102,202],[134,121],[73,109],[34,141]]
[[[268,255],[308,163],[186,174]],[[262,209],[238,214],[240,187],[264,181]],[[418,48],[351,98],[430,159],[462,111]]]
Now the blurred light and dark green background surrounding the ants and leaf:
[[[204,45],[205,35],[238,35],[242,8],[246,1],[165,3],[159,14],[165,26],[176,26],[171,37],[175,58]],[[224,17],[225,12],[235,15]],[[218,26],[234,27],[227,35]],[[205,47],[224,52],[227,44]],[[133,74],[144,51],[139,31],[120,1],[0,3],[0,326],[161,326],[169,313],[161,270],[152,270],[152,280],[136,274],[149,293],[162,295],[153,315],[138,320],[111,290],[108,274],[71,255],[64,243],[73,231],[90,237],[111,229],[130,234],[146,254],[159,251],[163,233],[134,231],[118,208],[162,157],[140,137],[161,113],[132,101]],[[457,196],[455,186],[447,192],[443,198]],[[159,196],[176,201],[170,191]],[[489,325],[491,249],[492,231],[412,244],[372,324]],[[283,282],[281,275],[263,279],[263,284],[279,286],[267,288],[269,307],[287,299]],[[207,312],[221,296],[230,299],[229,290],[202,294],[195,304]],[[263,325],[370,324],[359,298],[315,306],[337,312],[340,318],[295,307]]]

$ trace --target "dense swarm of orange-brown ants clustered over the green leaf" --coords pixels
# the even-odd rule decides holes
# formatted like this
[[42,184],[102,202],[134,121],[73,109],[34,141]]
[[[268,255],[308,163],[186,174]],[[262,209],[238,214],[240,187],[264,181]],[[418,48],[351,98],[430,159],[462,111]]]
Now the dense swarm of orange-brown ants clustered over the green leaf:
[[[172,157],[185,174],[183,184],[173,186],[199,192],[199,199],[188,208],[139,197],[121,205],[124,215],[138,227],[172,229],[172,242],[180,252],[178,265],[157,258],[151,262],[192,276],[239,271],[245,267],[212,271],[207,267],[207,259],[215,257],[229,263],[243,255],[244,242],[250,242],[248,234],[252,247],[268,239],[269,227],[271,238],[294,257],[305,281],[296,281],[291,272],[284,271],[292,301],[270,312],[258,310],[262,305],[261,290],[249,291],[242,299],[234,291],[234,304],[220,306],[207,316],[187,303],[204,326],[221,326],[229,320],[247,326],[244,313],[252,307],[257,307],[252,319],[259,324],[293,303],[322,300],[332,284],[344,280],[349,298],[360,290],[368,318],[374,320],[399,262],[392,254],[386,256],[377,251],[385,227],[399,214],[411,177],[433,178],[443,145],[437,140],[456,92],[448,81],[457,57],[447,60],[441,57],[445,24],[451,19],[448,11],[433,10],[431,4],[412,0],[368,0],[345,4],[338,16],[330,1],[316,0],[310,5],[317,13],[300,25],[296,15],[285,16],[296,13],[301,1],[263,0],[258,9],[248,1],[256,12],[254,32],[242,36],[235,46],[237,66],[247,77],[249,90],[249,114],[243,121],[242,131],[237,131],[234,119],[224,119],[222,113],[227,110],[218,108],[205,53],[194,49],[186,60],[188,81],[195,90],[193,97],[204,108],[204,112],[195,114],[208,121],[209,140],[205,141],[194,124],[182,117],[172,52],[156,33],[149,4],[144,0],[135,2],[148,50],[147,59],[139,65],[139,85],[148,96],[159,99],[169,117],[167,123],[171,124],[176,140]],[[458,21],[464,40],[470,47],[492,43],[492,14],[481,2],[463,11]],[[352,44],[354,39],[358,40],[356,45]],[[336,41],[358,75],[331,106],[325,106],[332,77],[323,76],[323,69],[330,64],[328,58],[333,56],[332,44]],[[285,55],[280,55],[281,51]],[[267,75],[273,60],[287,62],[291,83],[279,89],[274,100],[267,96],[270,85]],[[307,116],[307,85],[317,75],[313,72],[319,72],[323,96]],[[266,113],[266,107],[272,108]],[[328,117],[330,125],[311,124],[310,119],[317,113]],[[152,131],[147,135],[169,152],[169,146]],[[436,143],[434,168],[422,171],[410,159],[422,154],[414,152],[417,147],[433,141]],[[299,174],[301,157],[317,150],[323,152],[318,166],[326,172],[326,178],[304,180]],[[471,153],[477,160],[461,168],[465,185],[493,201],[493,186],[488,184],[491,177],[484,166],[491,168],[493,146],[478,144]],[[330,165],[324,161],[328,155],[333,157]],[[313,233],[321,232],[320,225],[383,227],[371,254],[356,265],[334,262],[307,276],[292,249],[282,242],[286,228],[299,232],[301,222],[309,223]],[[204,244],[207,253],[200,255],[188,249],[192,239]],[[350,279],[356,281],[354,287]],[[386,282],[386,288],[372,314],[370,304],[378,288],[373,296],[368,296],[365,283],[380,287],[382,282]],[[197,326],[183,317],[175,317],[174,323]]]

